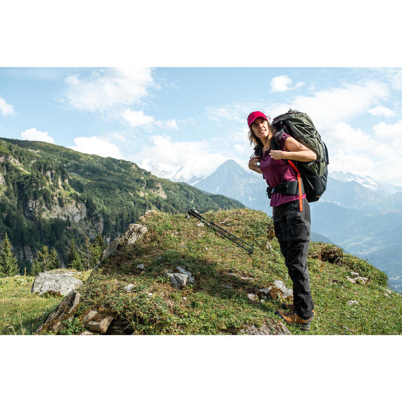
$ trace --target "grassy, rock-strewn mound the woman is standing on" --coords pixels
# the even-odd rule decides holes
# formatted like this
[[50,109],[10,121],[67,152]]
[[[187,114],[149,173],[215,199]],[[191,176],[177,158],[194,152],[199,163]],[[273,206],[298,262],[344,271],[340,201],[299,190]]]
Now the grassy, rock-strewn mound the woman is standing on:
[[[139,220],[148,228],[145,235],[108,257],[84,281],[78,311],[59,333],[81,333],[90,309],[124,322],[137,335],[238,334],[244,324],[258,327],[278,320],[274,312],[282,300],[252,302],[247,297],[277,279],[291,287],[272,238],[272,220],[247,209],[209,211],[204,216],[254,244],[255,254],[207,226],[197,226],[195,218],[153,211]],[[139,264],[145,270],[138,269]],[[172,287],[165,272],[178,265],[194,275],[194,285]],[[309,271],[316,314],[307,334],[402,334],[402,296],[386,287],[386,274],[325,243],[311,243]],[[351,283],[351,271],[369,280]],[[133,291],[124,291],[128,284],[135,285]],[[358,304],[350,306],[349,300]]]

